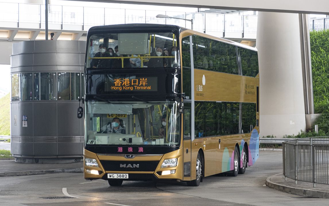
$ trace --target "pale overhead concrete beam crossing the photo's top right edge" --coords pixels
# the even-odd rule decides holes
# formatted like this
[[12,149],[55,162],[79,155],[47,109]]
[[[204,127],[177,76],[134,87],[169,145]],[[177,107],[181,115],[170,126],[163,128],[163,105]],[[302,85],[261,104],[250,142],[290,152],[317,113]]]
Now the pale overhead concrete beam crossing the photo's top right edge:
[[[75,1],[75,0],[72,0]],[[81,1],[81,0],[79,0]],[[90,1],[90,0],[82,0]],[[195,8],[211,8],[223,10],[245,10],[245,11],[265,11],[284,12],[302,14],[327,14],[329,15],[328,0],[94,0],[106,3],[125,4],[147,4],[161,6],[181,6]]]

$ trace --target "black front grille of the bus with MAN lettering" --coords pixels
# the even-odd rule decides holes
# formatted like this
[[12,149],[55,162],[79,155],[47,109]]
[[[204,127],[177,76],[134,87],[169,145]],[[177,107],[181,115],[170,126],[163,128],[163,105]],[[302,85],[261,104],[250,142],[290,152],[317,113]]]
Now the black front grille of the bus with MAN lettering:
[[159,161],[108,161],[101,160],[105,171],[143,171],[153,172]]

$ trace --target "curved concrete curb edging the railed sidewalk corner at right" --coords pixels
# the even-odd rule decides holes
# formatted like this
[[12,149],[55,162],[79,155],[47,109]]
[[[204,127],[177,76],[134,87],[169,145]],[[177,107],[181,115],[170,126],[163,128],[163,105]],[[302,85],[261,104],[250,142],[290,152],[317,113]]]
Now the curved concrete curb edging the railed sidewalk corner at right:
[[291,193],[291,194],[305,196],[305,197],[329,198],[329,192],[326,192],[326,191],[301,189],[301,188],[295,188],[295,187],[280,185],[280,184],[271,182],[271,180],[270,180],[271,177],[274,177],[274,176],[277,176],[277,175],[282,176],[282,173],[270,176],[266,179],[265,184],[266,184],[267,187],[273,188],[275,190]]

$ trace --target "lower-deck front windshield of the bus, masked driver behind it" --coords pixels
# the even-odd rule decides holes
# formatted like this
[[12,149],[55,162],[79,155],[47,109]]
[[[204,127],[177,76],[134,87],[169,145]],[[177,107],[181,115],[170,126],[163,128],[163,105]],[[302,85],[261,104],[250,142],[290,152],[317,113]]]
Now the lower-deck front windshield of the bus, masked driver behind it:
[[167,145],[180,143],[177,102],[86,102],[86,144]]

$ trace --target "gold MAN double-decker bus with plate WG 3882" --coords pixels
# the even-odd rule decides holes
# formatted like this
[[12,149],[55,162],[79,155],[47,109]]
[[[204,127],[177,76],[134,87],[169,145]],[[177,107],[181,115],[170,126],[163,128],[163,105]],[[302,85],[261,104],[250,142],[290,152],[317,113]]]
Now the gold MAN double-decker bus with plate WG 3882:
[[88,31],[84,178],[198,186],[259,156],[257,50],[174,25]]

